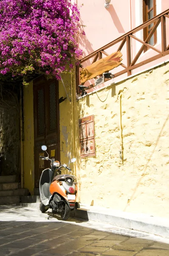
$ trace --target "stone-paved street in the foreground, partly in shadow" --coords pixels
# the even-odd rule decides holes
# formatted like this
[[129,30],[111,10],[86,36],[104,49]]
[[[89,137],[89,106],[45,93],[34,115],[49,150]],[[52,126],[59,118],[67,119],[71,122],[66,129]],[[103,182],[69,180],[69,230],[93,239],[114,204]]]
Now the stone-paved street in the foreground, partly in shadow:
[[169,239],[38,209],[0,206],[0,256],[169,256]]

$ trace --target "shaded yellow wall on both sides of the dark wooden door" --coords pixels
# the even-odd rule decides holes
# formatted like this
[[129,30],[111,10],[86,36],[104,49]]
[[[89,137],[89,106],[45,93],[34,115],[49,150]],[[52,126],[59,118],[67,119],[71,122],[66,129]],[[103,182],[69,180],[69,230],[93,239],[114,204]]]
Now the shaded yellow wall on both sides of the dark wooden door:
[[[64,74],[63,81],[69,96],[70,73]],[[65,97],[65,89],[62,81],[59,81],[59,98]],[[71,97],[71,96],[70,96]],[[68,163],[69,159],[75,156],[73,151],[73,106],[66,99],[59,104],[60,114],[60,157],[61,163]],[[76,164],[70,164],[75,173]],[[34,195],[34,106],[33,106],[33,81],[28,87],[24,87],[24,141],[23,141],[23,169],[24,188],[28,188],[31,195]],[[67,173],[70,173],[67,171]]]

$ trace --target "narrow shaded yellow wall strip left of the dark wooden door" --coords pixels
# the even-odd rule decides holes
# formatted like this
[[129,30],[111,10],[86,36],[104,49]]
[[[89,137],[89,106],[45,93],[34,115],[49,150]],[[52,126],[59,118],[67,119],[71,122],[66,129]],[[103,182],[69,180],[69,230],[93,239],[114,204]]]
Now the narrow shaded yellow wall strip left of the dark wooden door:
[[34,194],[34,105],[33,82],[24,87],[24,141],[23,141],[24,188]]

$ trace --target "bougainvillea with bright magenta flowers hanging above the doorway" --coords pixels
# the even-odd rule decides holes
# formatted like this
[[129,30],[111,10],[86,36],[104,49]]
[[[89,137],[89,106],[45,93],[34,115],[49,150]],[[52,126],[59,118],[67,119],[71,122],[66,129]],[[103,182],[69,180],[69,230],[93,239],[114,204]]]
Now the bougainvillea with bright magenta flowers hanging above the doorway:
[[71,0],[1,0],[0,73],[59,79],[68,61],[82,54],[75,38],[79,27]]

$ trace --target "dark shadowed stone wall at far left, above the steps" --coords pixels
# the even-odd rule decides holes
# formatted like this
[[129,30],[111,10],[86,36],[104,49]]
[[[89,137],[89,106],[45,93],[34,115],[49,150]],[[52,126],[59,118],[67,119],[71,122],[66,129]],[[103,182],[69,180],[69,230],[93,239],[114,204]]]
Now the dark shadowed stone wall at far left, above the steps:
[[0,175],[17,175],[20,180],[20,107],[17,95],[0,104]]

